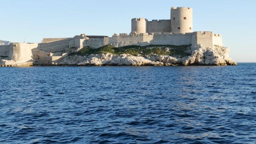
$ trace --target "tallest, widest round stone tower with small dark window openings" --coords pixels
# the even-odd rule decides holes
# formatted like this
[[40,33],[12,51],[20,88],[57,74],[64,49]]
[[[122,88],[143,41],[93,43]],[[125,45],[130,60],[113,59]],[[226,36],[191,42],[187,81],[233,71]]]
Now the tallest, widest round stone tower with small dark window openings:
[[171,8],[171,32],[172,33],[193,32],[192,8],[186,8],[186,7]]

